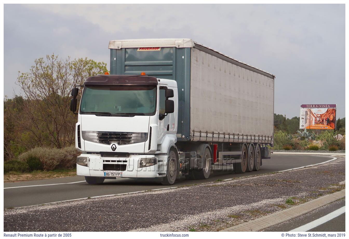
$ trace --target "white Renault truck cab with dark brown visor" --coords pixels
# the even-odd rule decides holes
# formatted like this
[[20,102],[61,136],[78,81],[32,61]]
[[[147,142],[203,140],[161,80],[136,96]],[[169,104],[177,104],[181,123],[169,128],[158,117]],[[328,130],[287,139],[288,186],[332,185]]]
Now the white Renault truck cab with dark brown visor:
[[[77,88],[73,96],[74,92]],[[75,145],[82,151],[77,175],[85,176],[90,184],[102,183],[105,178],[169,176],[170,150],[178,155],[177,111],[174,80],[145,75],[88,77],[76,123]],[[174,182],[173,172],[164,184]]]

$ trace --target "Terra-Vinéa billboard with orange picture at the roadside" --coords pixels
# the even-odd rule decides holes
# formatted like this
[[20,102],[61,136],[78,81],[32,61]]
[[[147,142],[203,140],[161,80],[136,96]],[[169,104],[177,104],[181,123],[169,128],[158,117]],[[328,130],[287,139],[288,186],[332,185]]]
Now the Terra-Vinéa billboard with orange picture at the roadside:
[[335,129],[336,105],[335,104],[309,104],[300,106],[300,129]]

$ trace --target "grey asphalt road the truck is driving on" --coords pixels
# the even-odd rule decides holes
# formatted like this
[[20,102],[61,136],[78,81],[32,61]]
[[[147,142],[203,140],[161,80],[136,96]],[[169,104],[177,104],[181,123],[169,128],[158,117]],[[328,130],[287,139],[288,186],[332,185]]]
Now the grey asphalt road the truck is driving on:
[[136,180],[127,178],[105,180],[102,185],[88,185],[86,182],[84,182],[84,177],[81,176],[22,182],[7,182],[4,183],[4,208],[31,206],[49,202],[80,199],[84,197],[205,183],[215,181],[217,179],[237,178],[247,175],[292,169],[295,167],[325,162],[329,159],[331,159],[329,156],[275,154],[272,156],[272,159],[263,159],[263,165],[257,172],[254,171],[236,174],[233,172],[215,171],[209,179],[187,180],[185,178],[181,178],[172,186],[164,186],[161,185],[159,181],[154,180]]

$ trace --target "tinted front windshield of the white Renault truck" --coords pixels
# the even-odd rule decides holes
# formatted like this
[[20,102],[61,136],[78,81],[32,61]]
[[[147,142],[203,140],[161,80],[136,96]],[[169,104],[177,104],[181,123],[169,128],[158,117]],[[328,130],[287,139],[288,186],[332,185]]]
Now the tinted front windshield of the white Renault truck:
[[154,115],[156,86],[85,85],[81,103],[82,114]]

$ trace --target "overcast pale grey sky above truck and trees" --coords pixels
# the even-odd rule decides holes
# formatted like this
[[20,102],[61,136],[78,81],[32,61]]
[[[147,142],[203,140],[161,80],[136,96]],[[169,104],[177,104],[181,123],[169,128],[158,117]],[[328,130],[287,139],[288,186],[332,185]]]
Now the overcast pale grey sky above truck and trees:
[[337,104],[345,116],[342,5],[9,5],[4,7],[4,95],[46,54],[88,57],[109,69],[109,40],[192,38],[276,76],[275,113]]

